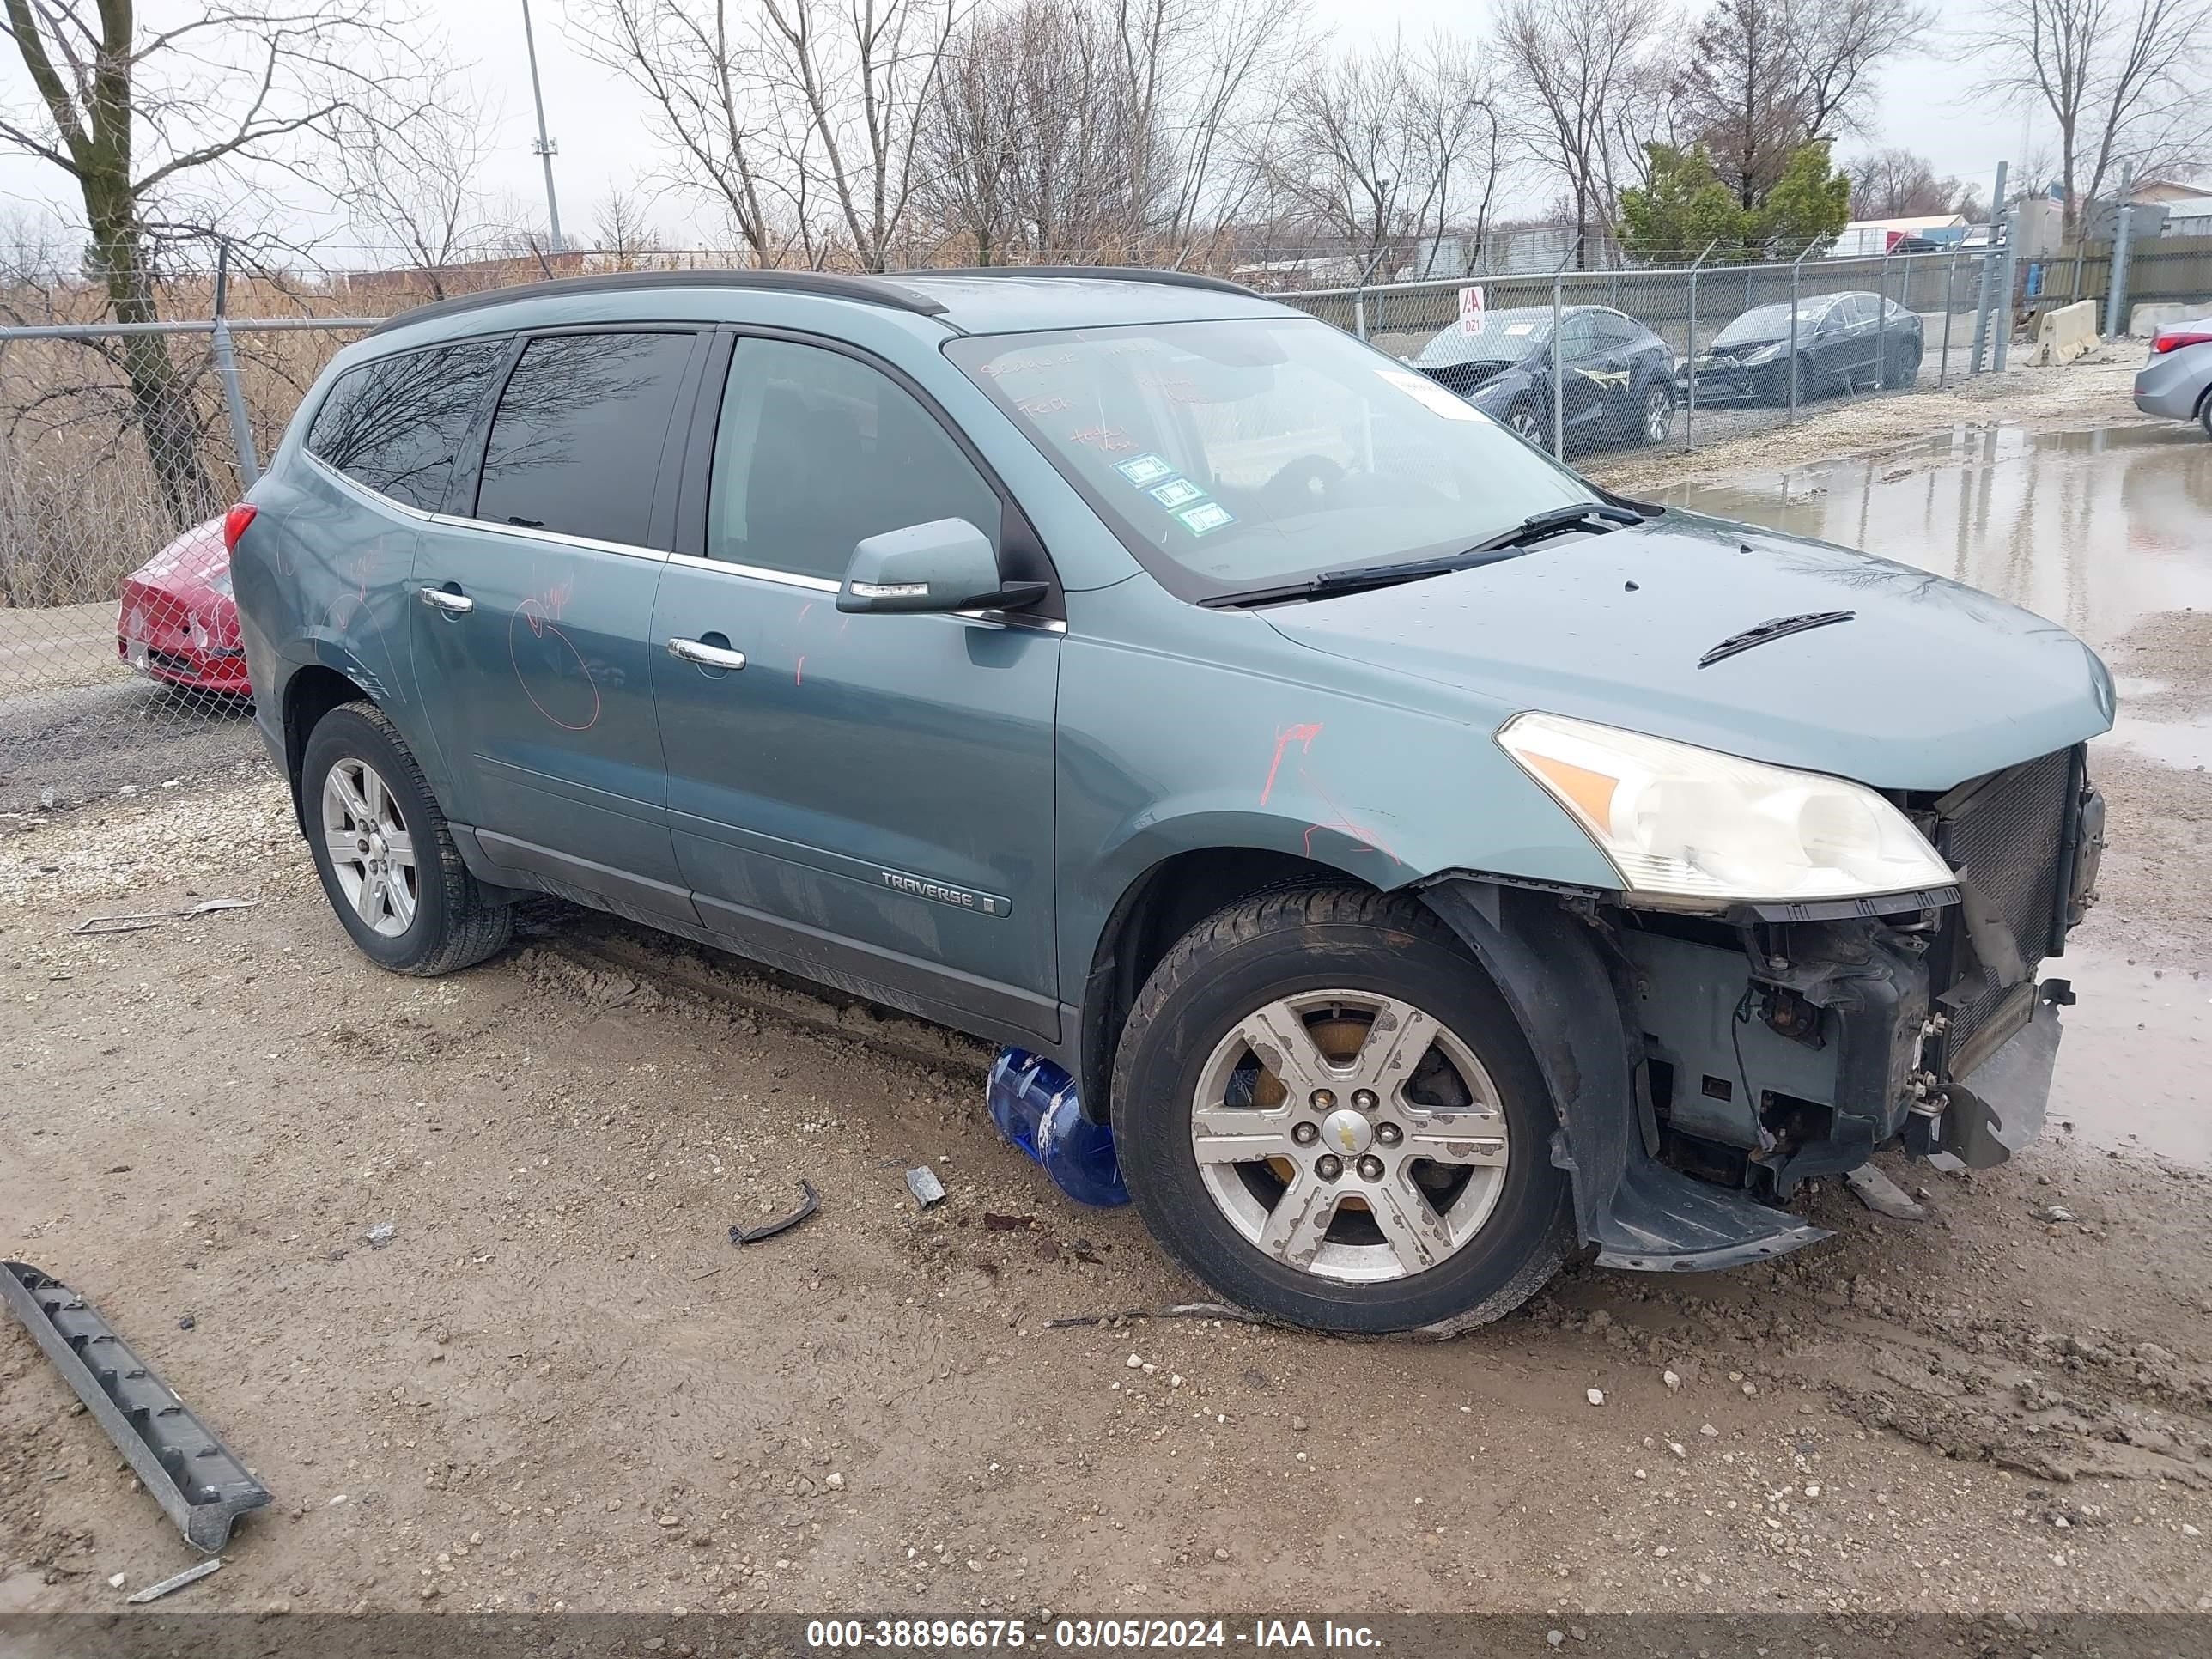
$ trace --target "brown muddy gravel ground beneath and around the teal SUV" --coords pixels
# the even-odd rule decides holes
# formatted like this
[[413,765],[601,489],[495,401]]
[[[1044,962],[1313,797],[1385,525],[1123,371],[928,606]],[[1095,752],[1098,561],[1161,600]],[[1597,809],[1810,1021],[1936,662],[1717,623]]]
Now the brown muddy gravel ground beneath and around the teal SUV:
[[[2124,670],[2183,717],[2201,622]],[[2203,772],[2124,770],[2086,945],[2201,1011]],[[478,971],[378,973],[259,768],[9,827],[0,1252],[276,1493],[164,1606],[2212,1610],[2212,1175],[2086,1115],[1891,1164],[1929,1221],[1825,1188],[1798,1256],[1579,1270],[1449,1343],[1130,1318],[1206,1290],[998,1141],[967,1040],[551,902]],[[252,909],[71,933],[199,898]],[[2157,1015],[2101,1018],[2124,1053]],[[2128,1124],[2197,1075],[2075,1088]],[[730,1243],[799,1181],[821,1214]],[[0,1613],[190,1559],[0,1325]]]

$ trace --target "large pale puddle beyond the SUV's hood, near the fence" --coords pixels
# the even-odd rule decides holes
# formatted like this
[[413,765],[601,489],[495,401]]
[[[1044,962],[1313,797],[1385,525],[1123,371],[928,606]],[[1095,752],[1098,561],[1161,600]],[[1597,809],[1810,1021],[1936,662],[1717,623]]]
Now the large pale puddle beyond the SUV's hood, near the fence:
[[2212,442],[2194,425],[1958,427],[1663,500],[1949,575],[2099,650],[2146,615],[2212,608]]

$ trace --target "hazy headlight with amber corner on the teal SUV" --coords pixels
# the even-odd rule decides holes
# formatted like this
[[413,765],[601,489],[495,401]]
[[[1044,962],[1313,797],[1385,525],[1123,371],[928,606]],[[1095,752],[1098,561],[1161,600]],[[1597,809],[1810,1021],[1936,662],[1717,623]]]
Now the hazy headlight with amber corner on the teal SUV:
[[1637,894],[1801,902],[1953,883],[1905,814],[1863,783],[1564,714],[1515,714],[1498,743]]

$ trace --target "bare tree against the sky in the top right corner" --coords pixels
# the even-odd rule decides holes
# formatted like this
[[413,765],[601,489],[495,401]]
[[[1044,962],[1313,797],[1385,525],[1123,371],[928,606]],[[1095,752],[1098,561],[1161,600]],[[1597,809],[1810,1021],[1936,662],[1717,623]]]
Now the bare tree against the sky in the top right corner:
[[1989,0],[1962,51],[2051,113],[2068,234],[2124,164],[2157,173],[2212,150],[2212,0]]

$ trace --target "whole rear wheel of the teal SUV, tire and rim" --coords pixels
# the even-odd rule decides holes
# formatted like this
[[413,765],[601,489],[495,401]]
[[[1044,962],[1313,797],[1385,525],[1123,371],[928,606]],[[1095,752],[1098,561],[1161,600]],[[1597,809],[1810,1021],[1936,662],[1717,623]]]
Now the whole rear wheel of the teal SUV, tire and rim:
[[513,909],[469,874],[438,799],[376,703],[307,734],[301,818],[323,896],[363,956],[394,973],[453,973],[507,945]]

